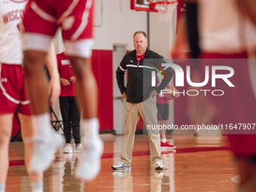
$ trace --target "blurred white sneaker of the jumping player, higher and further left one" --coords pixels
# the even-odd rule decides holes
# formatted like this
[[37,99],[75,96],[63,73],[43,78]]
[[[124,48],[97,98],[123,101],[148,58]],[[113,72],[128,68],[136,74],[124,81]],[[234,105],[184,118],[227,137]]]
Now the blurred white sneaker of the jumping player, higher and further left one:
[[50,136],[33,136],[33,154],[29,172],[44,172],[53,160],[53,153],[65,142],[63,136],[53,131]]

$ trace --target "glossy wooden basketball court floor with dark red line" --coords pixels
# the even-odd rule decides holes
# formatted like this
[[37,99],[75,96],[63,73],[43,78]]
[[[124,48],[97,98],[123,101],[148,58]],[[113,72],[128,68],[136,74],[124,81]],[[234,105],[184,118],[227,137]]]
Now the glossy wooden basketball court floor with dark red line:
[[[225,192],[236,190],[236,167],[225,136],[172,136],[176,151],[162,154],[164,171],[151,165],[148,137],[136,136],[131,172],[113,172],[123,136],[101,135],[104,141],[102,169],[90,182],[78,181],[75,166],[81,154],[58,151],[52,166],[44,172],[44,191],[170,191]],[[73,146],[74,147],[74,146]],[[7,192],[31,191],[24,166],[23,143],[10,144]],[[1,174],[1,173],[0,173]]]

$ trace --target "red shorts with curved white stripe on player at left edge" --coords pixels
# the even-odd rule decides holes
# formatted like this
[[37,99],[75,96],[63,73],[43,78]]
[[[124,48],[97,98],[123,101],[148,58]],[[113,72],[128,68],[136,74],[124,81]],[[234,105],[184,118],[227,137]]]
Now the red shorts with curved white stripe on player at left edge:
[[19,113],[31,115],[22,66],[0,63],[0,80],[0,114],[12,114],[17,108]]

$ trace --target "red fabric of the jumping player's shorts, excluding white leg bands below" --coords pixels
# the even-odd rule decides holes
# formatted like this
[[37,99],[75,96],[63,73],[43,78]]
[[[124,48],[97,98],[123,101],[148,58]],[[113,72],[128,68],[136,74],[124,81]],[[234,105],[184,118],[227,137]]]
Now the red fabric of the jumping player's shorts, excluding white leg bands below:
[[93,38],[93,0],[31,0],[23,25],[26,32],[50,36],[61,26],[65,40]]

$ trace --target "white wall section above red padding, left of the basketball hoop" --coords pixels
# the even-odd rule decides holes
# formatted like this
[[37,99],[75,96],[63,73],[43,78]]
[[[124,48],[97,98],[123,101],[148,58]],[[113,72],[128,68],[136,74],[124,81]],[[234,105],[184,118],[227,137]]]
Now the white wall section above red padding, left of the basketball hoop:
[[96,0],[94,25],[99,27],[93,28],[93,49],[112,50],[113,44],[117,43],[128,44],[128,50],[133,50],[133,33],[147,32],[147,13],[131,10],[130,0]]

